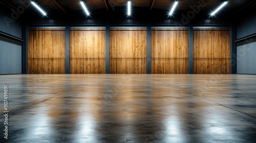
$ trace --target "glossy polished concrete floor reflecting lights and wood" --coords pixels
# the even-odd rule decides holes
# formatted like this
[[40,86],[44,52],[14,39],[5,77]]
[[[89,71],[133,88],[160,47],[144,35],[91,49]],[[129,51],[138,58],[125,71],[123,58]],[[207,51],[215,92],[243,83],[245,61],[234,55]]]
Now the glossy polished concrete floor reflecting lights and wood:
[[256,75],[1,75],[0,88],[0,142],[256,142]]

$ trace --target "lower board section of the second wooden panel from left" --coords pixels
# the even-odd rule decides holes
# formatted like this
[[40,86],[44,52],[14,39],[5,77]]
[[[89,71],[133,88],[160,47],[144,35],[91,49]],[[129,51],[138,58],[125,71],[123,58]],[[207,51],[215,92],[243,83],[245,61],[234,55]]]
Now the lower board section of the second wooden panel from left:
[[70,74],[105,74],[105,58],[70,58]]

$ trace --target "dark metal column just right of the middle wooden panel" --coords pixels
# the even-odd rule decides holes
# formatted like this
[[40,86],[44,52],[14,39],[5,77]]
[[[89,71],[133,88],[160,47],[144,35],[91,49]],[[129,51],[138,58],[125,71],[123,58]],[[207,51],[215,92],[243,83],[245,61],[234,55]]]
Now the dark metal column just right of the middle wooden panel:
[[147,50],[146,50],[146,73],[151,74],[151,25],[147,23]]

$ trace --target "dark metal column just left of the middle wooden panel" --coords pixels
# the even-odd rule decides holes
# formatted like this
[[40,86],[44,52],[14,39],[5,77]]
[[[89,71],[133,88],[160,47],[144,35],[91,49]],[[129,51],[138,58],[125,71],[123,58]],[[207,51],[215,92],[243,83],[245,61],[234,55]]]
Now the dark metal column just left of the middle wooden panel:
[[110,24],[106,23],[106,74],[110,74]]

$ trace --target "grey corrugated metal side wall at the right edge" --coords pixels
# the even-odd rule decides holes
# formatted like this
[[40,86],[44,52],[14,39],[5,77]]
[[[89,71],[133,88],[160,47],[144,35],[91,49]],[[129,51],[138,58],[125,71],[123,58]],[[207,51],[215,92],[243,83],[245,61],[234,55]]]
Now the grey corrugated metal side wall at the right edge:
[[238,19],[237,74],[256,74],[256,11],[249,10]]

